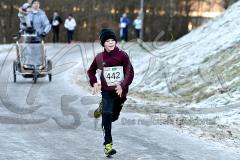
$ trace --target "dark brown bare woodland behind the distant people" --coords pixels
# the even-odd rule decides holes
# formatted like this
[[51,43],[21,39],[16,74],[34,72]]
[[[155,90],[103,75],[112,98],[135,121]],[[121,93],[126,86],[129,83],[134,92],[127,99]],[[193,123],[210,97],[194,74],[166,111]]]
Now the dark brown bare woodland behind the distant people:
[[[164,31],[161,40],[177,39],[188,33],[189,23],[198,26],[204,19],[191,15],[192,11],[201,11],[203,2],[211,6],[216,0],[147,0],[145,1],[144,40],[151,41],[159,32]],[[224,8],[236,0],[219,0]],[[0,43],[12,42],[11,35],[18,32],[18,7],[27,0],[1,0],[0,2]],[[193,5],[195,6],[193,8]],[[94,41],[102,27],[113,28],[119,34],[119,18],[124,12],[133,21],[140,10],[140,0],[42,0],[41,8],[49,19],[58,11],[63,20],[72,13],[77,22],[75,40]],[[129,39],[135,38],[133,27],[129,27]],[[66,41],[63,26],[60,29],[60,41]],[[51,41],[50,36],[47,41]]]

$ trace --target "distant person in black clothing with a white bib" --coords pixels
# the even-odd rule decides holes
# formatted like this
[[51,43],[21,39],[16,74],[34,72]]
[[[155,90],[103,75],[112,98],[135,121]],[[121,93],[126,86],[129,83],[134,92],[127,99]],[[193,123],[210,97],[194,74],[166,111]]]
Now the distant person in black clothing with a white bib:
[[60,26],[62,24],[62,19],[59,16],[58,12],[53,13],[53,17],[50,20],[51,25],[52,25],[52,33],[53,33],[53,43],[59,42],[59,31],[60,31]]

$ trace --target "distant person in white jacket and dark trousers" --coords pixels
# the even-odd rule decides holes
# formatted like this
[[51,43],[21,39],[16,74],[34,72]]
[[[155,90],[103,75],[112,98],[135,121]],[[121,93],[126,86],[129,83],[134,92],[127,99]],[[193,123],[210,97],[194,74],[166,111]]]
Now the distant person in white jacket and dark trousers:
[[69,14],[68,18],[64,22],[64,27],[67,30],[67,42],[71,43],[73,40],[73,34],[77,24],[72,14]]

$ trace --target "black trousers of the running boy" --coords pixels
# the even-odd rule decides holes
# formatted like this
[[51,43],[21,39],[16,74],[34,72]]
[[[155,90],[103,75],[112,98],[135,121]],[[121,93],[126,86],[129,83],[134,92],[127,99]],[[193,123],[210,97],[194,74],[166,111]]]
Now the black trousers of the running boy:
[[112,143],[112,122],[120,115],[126,97],[120,98],[115,91],[102,91],[102,127],[105,131],[104,145]]

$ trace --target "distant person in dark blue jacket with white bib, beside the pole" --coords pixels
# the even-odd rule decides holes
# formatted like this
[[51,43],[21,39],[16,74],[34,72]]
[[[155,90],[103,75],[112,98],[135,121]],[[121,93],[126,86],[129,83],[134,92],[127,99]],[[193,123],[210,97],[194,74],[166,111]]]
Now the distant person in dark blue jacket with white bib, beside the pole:
[[127,17],[127,14],[124,13],[123,16],[120,18],[120,38],[122,42],[128,41],[128,26],[130,24],[130,20]]

